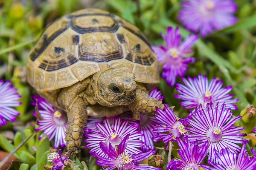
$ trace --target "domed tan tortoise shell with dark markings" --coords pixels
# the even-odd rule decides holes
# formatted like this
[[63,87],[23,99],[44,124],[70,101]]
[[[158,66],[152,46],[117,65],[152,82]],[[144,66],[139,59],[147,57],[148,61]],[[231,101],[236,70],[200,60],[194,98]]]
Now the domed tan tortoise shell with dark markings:
[[68,87],[109,67],[158,83],[156,55],[140,30],[100,9],[83,9],[49,24],[27,60],[28,82],[38,92]]

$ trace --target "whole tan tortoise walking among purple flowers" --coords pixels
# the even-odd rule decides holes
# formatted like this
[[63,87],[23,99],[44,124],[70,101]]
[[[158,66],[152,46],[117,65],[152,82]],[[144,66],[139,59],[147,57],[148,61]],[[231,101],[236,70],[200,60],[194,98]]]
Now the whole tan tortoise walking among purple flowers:
[[119,16],[82,9],[47,25],[27,59],[27,81],[67,112],[67,150],[79,152],[87,116],[132,111],[153,116],[163,103],[148,96],[159,63],[141,31]]

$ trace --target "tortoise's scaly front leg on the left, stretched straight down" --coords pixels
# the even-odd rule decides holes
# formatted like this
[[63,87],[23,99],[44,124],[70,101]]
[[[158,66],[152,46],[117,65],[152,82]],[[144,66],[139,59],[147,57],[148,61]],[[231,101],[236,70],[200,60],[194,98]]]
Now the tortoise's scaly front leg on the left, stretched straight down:
[[[89,79],[90,80],[90,79]],[[58,105],[67,111],[66,138],[67,150],[71,154],[79,153],[84,126],[87,124],[86,105],[79,94],[84,91],[90,81],[79,82],[71,87],[64,88],[58,94]]]

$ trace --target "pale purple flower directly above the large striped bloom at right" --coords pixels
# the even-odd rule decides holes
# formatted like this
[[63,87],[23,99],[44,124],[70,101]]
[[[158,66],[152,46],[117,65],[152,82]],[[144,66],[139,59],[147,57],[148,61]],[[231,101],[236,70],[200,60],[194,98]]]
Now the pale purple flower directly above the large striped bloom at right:
[[228,94],[232,90],[232,86],[221,88],[223,82],[218,81],[216,77],[209,83],[207,76],[199,74],[198,78],[188,77],[188,80],[183,78],[183,82],[185,85],[177,83],[176,89],[180,94],[174,96],[183,100],[180,104],[185,109],[195,108],[200,104],[205,107],[209,102],[214,104],[218,102],[220,105],[225,103],[226,108],[238,109],[233,103],[238,102],[239,99],[231,99],[234,95]]

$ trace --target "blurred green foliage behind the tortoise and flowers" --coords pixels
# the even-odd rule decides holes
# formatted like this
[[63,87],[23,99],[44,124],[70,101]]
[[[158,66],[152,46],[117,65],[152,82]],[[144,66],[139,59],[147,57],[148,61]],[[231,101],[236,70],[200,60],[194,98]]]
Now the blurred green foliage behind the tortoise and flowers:
[[[256,0],[235,1],[239,22],[198,40],[193,47],[197,60],[189,64],[186,76],[204,74],[209,79],[218,77],[225,86],[232,85],[232,94],[240,99],[234,114],[239,115],[247,106],[256,106]],[[8,133],[4,136],[11,142],[14,131],[28,127],[33,131],[35,127],[34,108],[29,105],[33,90],[26,83],[24,67],[29,51],[48,23],[82,8],[101,8],[125,18],[140,28],[152,45],[163,44],[159,33],[168,26],[179,26],[183,38],[189,34],[177,21],[180,0],[0,0],[0,79],[11,79],[23,96],[23,105],[17,107],[21,116],[0,127],[0,134]],[[182,83],[180,78],[177,82]],[[177,91],[164,79],[160,90],[164,102],[175,105],[180,117],[187,115],[189,111],[173,97]]]

